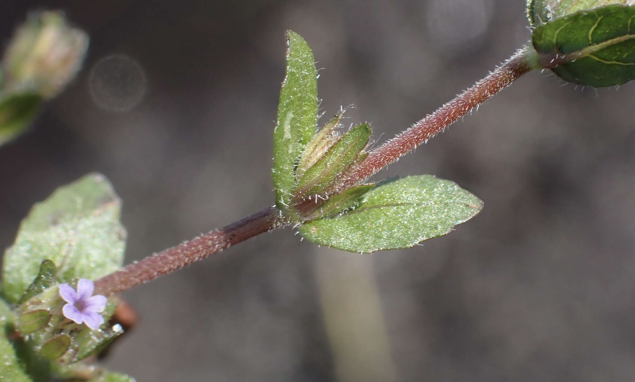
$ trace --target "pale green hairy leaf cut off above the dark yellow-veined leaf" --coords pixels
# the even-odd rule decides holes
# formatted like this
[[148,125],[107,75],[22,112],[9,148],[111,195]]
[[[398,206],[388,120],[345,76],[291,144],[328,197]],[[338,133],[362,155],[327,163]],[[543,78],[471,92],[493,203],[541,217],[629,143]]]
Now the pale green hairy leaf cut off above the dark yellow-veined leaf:
[[527,18],[532,27],[537,27],[577,11],[607,5],[635,5],[635,0],[527,0]]

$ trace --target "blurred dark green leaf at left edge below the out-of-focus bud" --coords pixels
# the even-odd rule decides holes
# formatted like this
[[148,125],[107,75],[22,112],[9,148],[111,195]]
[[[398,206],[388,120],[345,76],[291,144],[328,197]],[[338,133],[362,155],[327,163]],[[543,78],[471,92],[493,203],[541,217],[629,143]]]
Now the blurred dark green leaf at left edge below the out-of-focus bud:
[[17,137],[34,120],[42,98],[30,92],[0,97],[0,145]]

